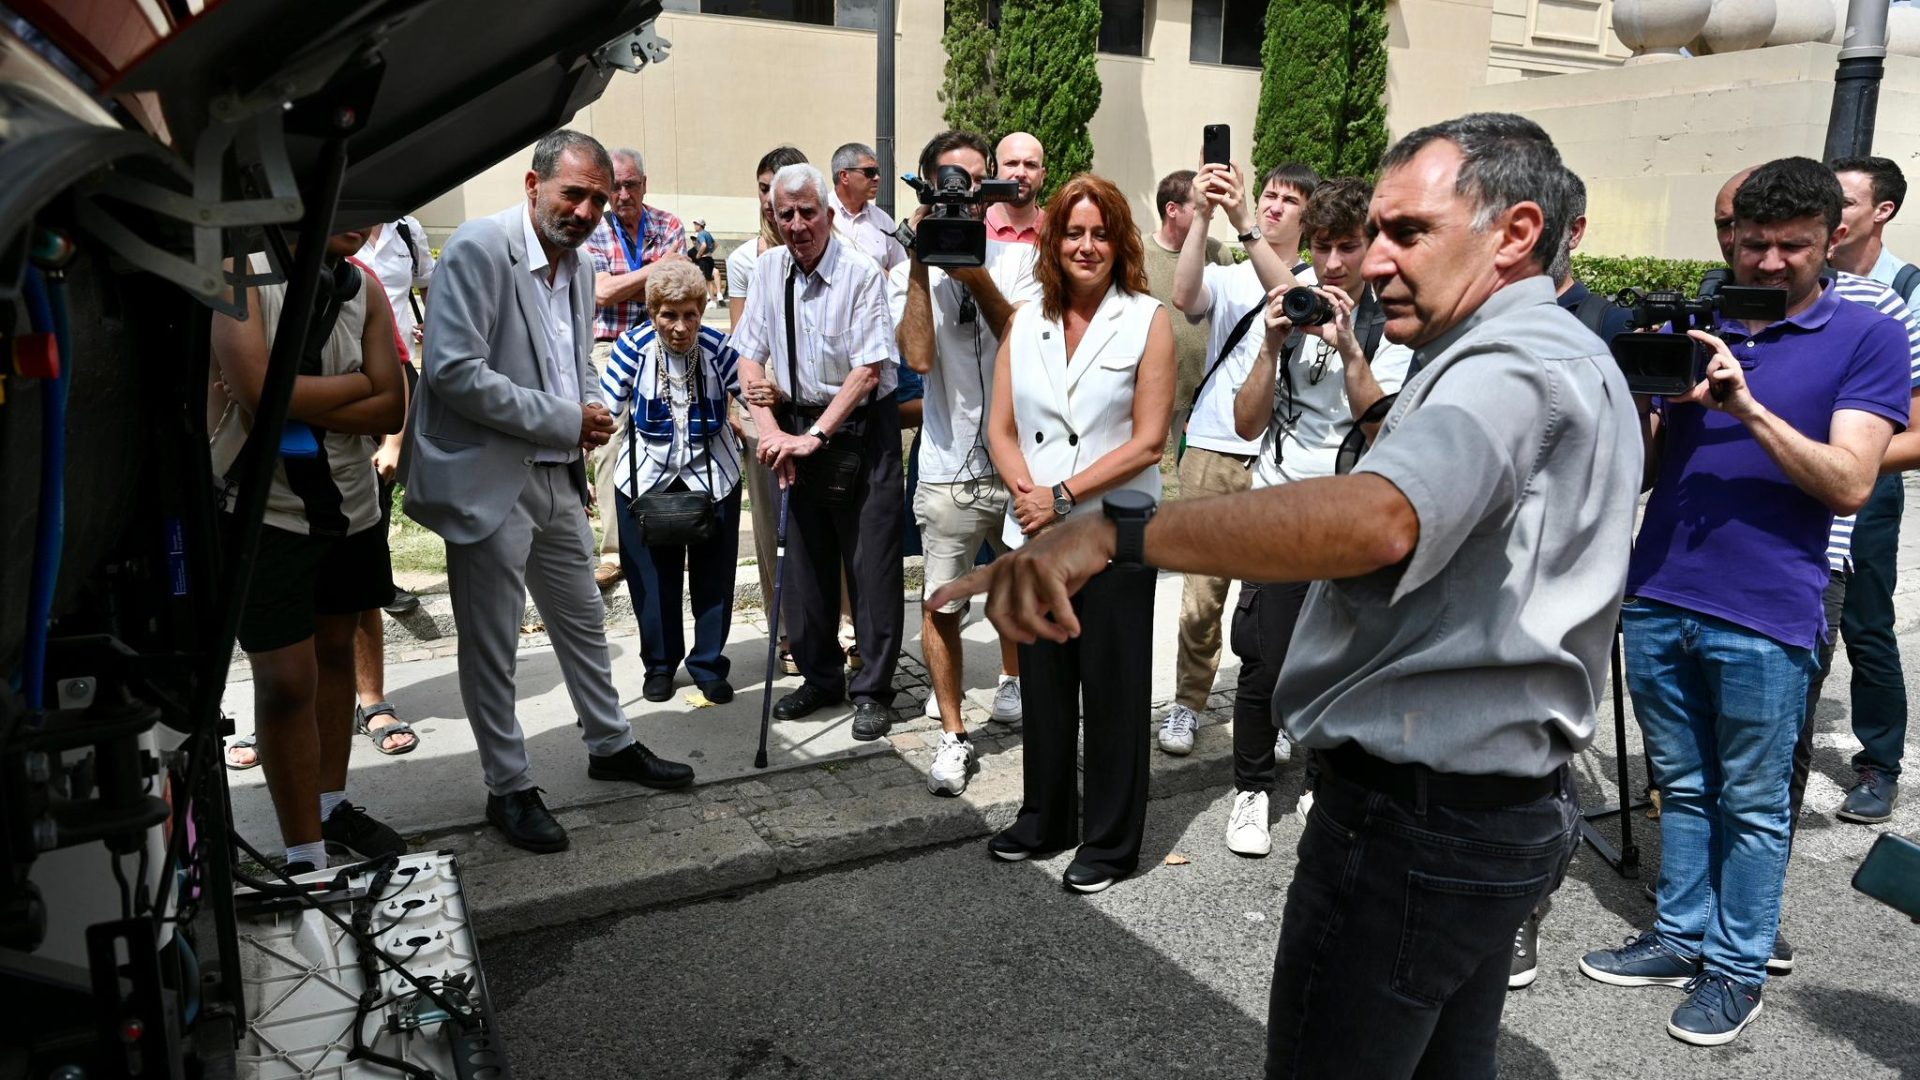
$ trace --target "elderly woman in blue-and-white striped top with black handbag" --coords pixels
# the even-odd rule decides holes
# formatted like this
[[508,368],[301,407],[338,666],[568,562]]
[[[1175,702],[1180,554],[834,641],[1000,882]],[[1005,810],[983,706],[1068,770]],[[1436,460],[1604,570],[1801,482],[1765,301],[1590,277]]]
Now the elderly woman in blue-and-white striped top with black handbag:
[[[645,696],[674,696],[687,675],[708,701],[733,700],[726,636],[739,557],[739,440],[728,398],[739,357],[726,334],[701,327],[707,281],[693,263],[660,263],[647,279],[649,319],[620,334],[601,394],[628,438],[614,461],[620,569],[639,619]],[[682,573],[693,600],[693,651],[680,619]]]

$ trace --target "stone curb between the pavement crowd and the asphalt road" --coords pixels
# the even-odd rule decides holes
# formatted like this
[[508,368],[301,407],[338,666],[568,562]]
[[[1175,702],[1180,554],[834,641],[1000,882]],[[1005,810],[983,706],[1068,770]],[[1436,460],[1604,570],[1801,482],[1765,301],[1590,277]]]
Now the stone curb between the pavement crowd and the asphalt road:
[[[1219,723],[1223,717],[1213,719],[1196,732],[1188,757],[1152,751],[1150,799],[1225,788],[1233,780],[1233,730]],[[983,753],[966,796],[943,799],[927,794],[931,751],[920,734],[893,738],[897,757],[874,759],[864,776],[831,784],[847,788],[841,798],[801,786],[806,773],[822,771],[810,769],[714,784],[693,796],[637,796],[582,807],[563,815],[574,846],[557,855],[526,855],[472,828],[428,836],[419,847],[461,857],[478,934],[503,938],[981,838],[1012,822],[1020,809],[1018,742],[1000,740],[1012,746]],[[774,780],[787,792],[776,790]],[[801,794],[812,798],[791,798]],[[743,807],[753,809],[737,813]],[[666,828],[647,830],[659,824]]]

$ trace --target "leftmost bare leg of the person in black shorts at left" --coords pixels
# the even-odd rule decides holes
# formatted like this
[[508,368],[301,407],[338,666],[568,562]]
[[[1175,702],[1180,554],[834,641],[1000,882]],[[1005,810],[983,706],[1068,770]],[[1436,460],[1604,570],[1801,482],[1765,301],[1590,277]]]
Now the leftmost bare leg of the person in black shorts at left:
[[253,728],[267,794],[288,847],[321,840],[321,738],[313,724],[319,680],[313,638],[248,653],[253,665]]

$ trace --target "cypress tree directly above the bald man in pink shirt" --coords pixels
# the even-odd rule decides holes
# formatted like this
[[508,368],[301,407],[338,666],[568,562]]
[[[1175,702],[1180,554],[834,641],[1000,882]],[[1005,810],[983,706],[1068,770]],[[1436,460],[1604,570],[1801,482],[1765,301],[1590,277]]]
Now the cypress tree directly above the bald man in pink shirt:
[[1031,131],[1046,148],[1052,198],[1073,173],[1092,167],[1087,123],[1100,108],[1098,0],[1004,0],[995,71],[1000,131]]

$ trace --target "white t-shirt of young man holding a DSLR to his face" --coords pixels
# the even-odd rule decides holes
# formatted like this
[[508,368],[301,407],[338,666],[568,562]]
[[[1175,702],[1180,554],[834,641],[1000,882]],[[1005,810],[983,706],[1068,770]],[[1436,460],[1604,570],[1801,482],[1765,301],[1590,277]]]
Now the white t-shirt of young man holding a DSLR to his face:
[[[1363,329],[1359,342],[1365,348]],[[1281,363],[1288,363],[1286,354],[1281,354]],[[1413,350],[1380,338],[1373,352],[1373,379],[1384,394],[1394,394],[1407,380],[1411,363]],[[1323,338],[1306,338],[1283,375],[1292,377],[1292,398],[1288,400],[1286,382],[1275,377],[1273,417],[1260,436],[1260,455],[1254,457],[1254,488],[1332,477],[1340,442],[1354,429],[1354,409],[1346,398],[1346,361],[1338,350]]]

